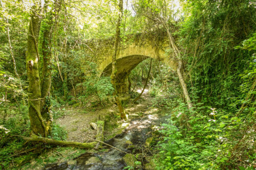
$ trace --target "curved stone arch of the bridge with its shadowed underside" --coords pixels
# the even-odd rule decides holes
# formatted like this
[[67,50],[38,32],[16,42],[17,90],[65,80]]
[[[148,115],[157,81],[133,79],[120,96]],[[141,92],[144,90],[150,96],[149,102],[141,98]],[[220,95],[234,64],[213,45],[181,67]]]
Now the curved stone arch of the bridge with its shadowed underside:
[[[143,60],[154,58],[160,60],[172,68],[176,69],[176,62],[170,59],[164,50],[151,45],[152,42],[136,45],[131,44],[125,48],[120,48],[117,53],[117,75],[116,87],[118,93],[129,92],[129,75],[131,71]],[[106,57],[99,64],[99,72],[101,76],[110,76],[112,72],[112,55]]]

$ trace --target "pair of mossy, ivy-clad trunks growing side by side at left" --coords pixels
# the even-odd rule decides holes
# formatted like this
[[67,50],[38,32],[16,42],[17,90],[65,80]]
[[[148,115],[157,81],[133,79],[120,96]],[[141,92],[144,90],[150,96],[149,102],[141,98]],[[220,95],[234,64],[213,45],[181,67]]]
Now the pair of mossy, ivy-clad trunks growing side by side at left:
[[[55,12],[59,11],[61,0],[55,1]],[[29,77],[29,117],[32,133],[47,137],[51,132],[52,114],[50,111],[51,89],[51,38],[54,27],[53,10],[47,12],[42,25],[42,75],[39,75],[38,37],[42,21],[44,2],[37,2],[32,7],[28,32],[27,72]],[[41,78],[41,79],[40,79]]]

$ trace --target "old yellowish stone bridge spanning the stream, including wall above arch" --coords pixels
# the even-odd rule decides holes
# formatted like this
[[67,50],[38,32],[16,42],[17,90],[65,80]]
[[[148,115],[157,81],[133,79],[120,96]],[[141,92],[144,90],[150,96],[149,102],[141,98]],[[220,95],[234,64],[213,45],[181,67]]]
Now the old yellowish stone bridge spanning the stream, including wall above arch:
[[[91,57],[91,61],[98,65],[99,76],[111,75],[113,47],[113,37],[86,42],[84,49],[86,54]],[[169,44],[164,32],[160,32],[158,36],[156,36],[156,33],[130,35],[125,41],[122,41],[116,58],[116,87],[118,93],[129,92],[128,78],[132,69],[147,58],[157,59],[175,69],[177,64],[167,55],[168,50]]]

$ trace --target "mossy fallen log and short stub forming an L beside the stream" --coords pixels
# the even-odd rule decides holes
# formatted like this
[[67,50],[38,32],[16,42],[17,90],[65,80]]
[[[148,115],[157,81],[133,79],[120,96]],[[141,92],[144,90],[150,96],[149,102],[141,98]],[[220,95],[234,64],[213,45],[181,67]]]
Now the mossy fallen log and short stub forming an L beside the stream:
[[[96,124],[97,124],[96,140],[103,141],[104,121],[99,120]],[[23,137],[24,140],[27,140],[30,142],[44,142],[48,144],[61,145],[65,147],[77,147],[77,148],[84,148],[84,149],[93,149],[100,143],[97,141],[81,143],[81,142],[75,142],[75,141],[54,140],[54,139],[49,139],[45,137],[40,137],[35,134],[32,134],[30,137],[26,137],[26,136],[20,136],[20,137]]]

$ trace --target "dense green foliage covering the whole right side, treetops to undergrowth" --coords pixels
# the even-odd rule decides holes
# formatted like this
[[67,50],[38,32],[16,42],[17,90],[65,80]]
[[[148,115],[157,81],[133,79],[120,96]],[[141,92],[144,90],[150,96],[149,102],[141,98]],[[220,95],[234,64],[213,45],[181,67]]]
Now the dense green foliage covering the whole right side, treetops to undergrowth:
[[[176,35],[195,108],[179,101],[163,125],[157,167],[250,169],[255,163],[255,8],[249,1],[183,1],[183,11]],[[157,101],[168,105],[168,100]]]

